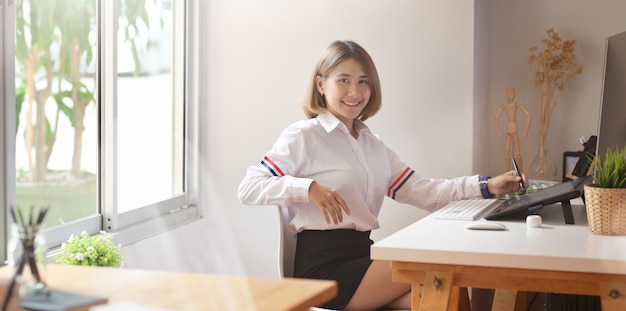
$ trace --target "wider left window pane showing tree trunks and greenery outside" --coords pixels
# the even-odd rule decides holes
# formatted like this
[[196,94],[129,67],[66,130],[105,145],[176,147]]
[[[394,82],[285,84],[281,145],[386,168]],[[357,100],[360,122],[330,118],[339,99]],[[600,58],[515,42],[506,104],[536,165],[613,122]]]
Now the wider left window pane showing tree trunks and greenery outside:
[[98,213],[96,0],[15,2],[16,204]]

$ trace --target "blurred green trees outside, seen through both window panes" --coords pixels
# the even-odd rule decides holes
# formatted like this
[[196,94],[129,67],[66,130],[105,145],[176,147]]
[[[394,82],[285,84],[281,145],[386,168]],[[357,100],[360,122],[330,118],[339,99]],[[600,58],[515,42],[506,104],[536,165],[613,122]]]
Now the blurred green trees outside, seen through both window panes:
[[[142,69],[140,51],[148,43],[150,27],[147,0],[119,0],[120,27],[130,43],[134,75]],[[154,5],[160,4],[152,0]],[[29,157],[29,181],[43,183],[59,132],[59,117],[74,128],[71,175],[81,177],[86,109],[96,103],[97,87],[86,81],[99,79],[87,68],[94,66],[95,21],[99,1],[15,1],[16,131],[22,109],[29,115],[24,128]],[[153,28],[154,29],[154,28]],[[145,46],[144,46],[145,45]],[[85,78],[88,78],[85,80]]]

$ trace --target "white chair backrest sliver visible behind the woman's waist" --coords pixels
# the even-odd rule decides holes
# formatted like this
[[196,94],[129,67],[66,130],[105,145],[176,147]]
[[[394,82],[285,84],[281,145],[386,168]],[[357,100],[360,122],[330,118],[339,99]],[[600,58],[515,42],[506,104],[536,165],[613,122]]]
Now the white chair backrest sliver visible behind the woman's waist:
[[278,270],[281,278],[293,277],[293,260],[296,256],[297,236],[289,232],[289,222],[293,218],[288,208],[278,206],[280,217],[280,243],[278,253]]

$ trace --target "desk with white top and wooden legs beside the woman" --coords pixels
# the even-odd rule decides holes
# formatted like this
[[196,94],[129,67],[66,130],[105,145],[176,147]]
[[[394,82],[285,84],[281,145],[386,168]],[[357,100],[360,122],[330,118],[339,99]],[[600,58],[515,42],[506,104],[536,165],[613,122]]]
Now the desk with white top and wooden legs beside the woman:
[[626,236],[590,233],[584,207],[572,208],[575,225],[554,205],[537,211],[541,228],[499,221],[506,231],[428,216],[375,243],[372,258],[412,284],[412,310],[452,310],[460,287],[594,295],[605,311],[626,310]]

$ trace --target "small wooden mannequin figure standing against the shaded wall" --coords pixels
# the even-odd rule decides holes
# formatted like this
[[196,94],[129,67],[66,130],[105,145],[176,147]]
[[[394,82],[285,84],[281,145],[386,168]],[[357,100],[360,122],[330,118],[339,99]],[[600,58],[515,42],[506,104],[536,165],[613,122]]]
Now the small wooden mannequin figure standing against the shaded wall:
[[506,112],[507,115],[507,123],[506,123],[506,139],[504,143],[504,163],[506,165],[507,170],[511,170],[511,143],[513,143],[513,152],[515,153],[515,159],[517,160],[517,164],[519,166],[520,171],[524,171],[524,165],[522,161],[522,152],[520,150],[519,144],[519,136],[517,133],[517,109],[521,110],[526,115],[526,127],[524,128],[524,138],[528,136],[528,130],[530,128],[530,121],[532,116],[526,107],[518,102],[515,102],[515,89],[509,87],[506,89],[506,104],[500,105],[498,112],[496,113],[495,118],[493,119],[493,125],[496,128],[496,134],[498,137],[502,137],[502,132],[500,131],[500,125],[498,120],[500,119],[500,115],[502,112]]

